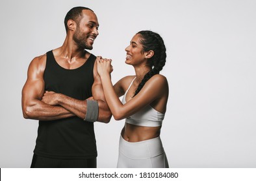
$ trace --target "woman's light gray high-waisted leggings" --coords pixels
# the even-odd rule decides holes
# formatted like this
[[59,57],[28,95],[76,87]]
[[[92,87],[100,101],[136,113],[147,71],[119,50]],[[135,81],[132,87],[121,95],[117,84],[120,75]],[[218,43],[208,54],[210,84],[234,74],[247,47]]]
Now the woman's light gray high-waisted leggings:
[[127,142],[120,136],[118,168],[168,168],[160,137]]

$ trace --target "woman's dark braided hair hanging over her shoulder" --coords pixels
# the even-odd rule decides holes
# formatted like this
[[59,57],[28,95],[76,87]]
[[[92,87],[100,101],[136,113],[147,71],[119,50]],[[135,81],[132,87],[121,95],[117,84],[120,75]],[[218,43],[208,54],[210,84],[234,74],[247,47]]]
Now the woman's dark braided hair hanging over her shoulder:
[[166,47],[162,37],[160,37],[159,34],[149,30],[143,30],[137,34],[140,36],[140,43],[142,43],[142,52],[153,50],[154,55],[147,60],[151,70],[147,72],[147,74],[138,85],[134,96],[140,92],[147,80],[149,80],[155,74],[159,74],[160,70],[162,70],[162,67],[164,67],[166,62]]

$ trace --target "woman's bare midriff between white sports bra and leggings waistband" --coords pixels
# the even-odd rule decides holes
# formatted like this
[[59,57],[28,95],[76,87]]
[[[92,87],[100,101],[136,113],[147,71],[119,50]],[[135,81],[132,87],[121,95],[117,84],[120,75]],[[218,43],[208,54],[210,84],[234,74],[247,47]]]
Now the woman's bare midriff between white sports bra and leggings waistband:
[[121,135],[127,142],[142,142],[152,138],[157,138],[160,135],[161,127],[145,127],[125,123]]

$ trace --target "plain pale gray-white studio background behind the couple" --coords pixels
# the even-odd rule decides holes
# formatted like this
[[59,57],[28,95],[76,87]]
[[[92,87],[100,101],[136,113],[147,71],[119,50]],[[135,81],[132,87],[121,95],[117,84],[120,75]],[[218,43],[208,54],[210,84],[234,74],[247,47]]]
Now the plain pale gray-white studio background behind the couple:
[[[21,89],[32,58],[62,45],[73,6],[96,12],[90,52],[113,59],[113,83],[134,74],[124,48],[136,32],[163,37],[170,167],[256,167],[256,1],[248,0],[1,1],[0,167],[30,167],[38,121],[23,118]],[[98,167],[116,167],[123,124],[95,124]]]

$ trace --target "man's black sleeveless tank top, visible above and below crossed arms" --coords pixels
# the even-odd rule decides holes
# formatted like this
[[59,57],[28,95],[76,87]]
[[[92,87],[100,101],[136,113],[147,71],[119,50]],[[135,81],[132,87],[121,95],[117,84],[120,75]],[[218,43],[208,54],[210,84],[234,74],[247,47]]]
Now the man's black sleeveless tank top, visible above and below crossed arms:
[[[53,51],[46,55],[45,91],[58,92],[77,100],[86,100],[92,96],[96,56],[91,54],[81,67],[69,70],[58,65]],[[39,121],[34,153],[63,159],[96,158],[94,123],[85,122],[77,116]]]

